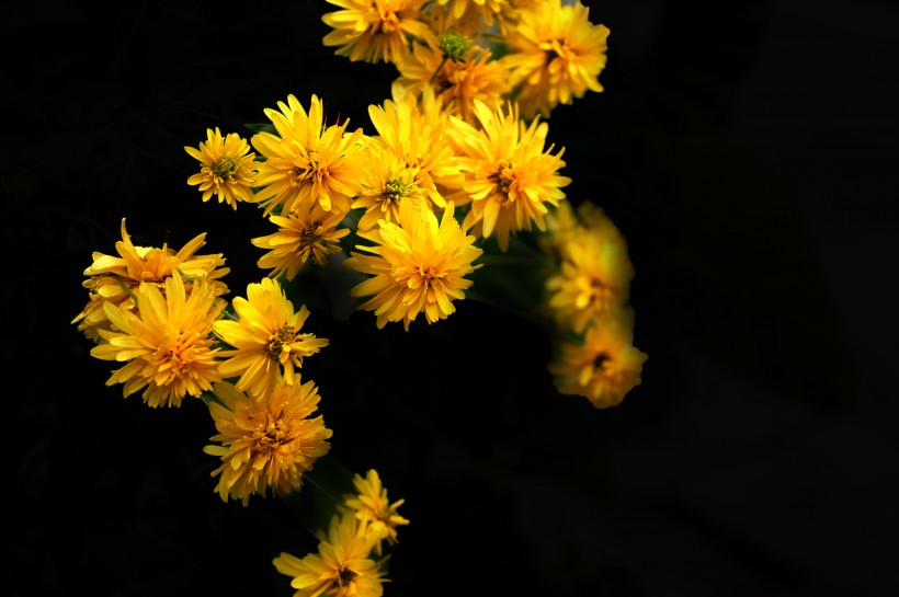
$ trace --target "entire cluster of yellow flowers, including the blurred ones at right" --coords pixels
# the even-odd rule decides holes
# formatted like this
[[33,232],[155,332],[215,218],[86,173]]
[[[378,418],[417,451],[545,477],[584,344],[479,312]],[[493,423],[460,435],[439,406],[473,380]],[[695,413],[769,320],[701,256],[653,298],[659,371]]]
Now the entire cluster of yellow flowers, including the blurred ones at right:
[[[252,206],[275,227],[250,239],[261,282],[228,299],[223,255],[196,254],[205,233],[177,252],[135,246],[123,218],[118,256],[93,254],[72,321],[94,357],[123,364],[107,384],[125,397],[202,399],[217,430],[204,449],[220,459],[215,491],[244,506],[296,495],[330,449],[318,387],[301,375],[329,340],[285,290],[310,268],[342,268],[355,309],[409,331],[420,314],[447,320],[480,271],[528,248],[542,292],[531,308],[555,338],[547,367],[560,393],[618,404],[647,358],[633,345],[624,237],[600,207],[574,207],[565,148],[549,142],[553,110],[603,90],[608,30],[562,0],[328,2],[339,10],[323,16],[326,46],[396,67],[391,96],[368,107],[372,128],[329,118],[316,94],[288,94],[247,124],[249,138],[215,127],[184,147],[203,202]],[[388,502],[375,470],[352,481],[318,553],[274,561],[297,597],[383,592],[403,501]]]

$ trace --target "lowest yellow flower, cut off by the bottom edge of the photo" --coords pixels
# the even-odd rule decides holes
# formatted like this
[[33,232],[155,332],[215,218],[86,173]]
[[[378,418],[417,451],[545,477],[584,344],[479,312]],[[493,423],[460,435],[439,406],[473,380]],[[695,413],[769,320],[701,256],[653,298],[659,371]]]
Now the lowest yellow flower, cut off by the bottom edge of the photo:
[[387,560],[369,558],[372,538],[361,532],[362,523],[352,514],[334,515],[328,533],[317,533],[318,553],[297,558],[282,552],[272,563],[281,574],[292,576],[294,597],[380,597]]

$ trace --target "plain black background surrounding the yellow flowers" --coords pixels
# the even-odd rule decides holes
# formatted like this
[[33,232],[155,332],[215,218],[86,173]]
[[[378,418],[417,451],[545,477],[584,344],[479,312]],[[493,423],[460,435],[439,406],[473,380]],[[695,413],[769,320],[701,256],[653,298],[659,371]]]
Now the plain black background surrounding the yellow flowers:
[[[386,595],[899,594],[897,10],[879,0],[589,2],[603,93],[559,106],[572,202],[625,234],[642,384],[556,394],[543,332],[307,325],[331,455],[406,498]],[[9,11],[10,9],[5,9]],[[4,595],[273,595],[287,507],[223,503],[200,401],[146,407],[69,321],[91,253],[207,232],[232,295],[248,206],[186,184],[207,127],[312,93],[373,133],[392,67],[326,48],[323,1],[21,3],[2,34]]]

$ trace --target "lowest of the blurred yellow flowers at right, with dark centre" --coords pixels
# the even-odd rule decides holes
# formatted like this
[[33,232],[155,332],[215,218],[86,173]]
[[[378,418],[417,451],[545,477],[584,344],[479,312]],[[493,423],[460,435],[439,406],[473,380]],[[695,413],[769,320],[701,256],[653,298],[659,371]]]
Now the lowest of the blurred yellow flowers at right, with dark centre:
[[556,389],[562,394],[585,397],[598,409],[619,404],[639,386],[647,359],[633,341],[629,308],[616,318],[590,325],[583,343],[561,341],[548,366]]

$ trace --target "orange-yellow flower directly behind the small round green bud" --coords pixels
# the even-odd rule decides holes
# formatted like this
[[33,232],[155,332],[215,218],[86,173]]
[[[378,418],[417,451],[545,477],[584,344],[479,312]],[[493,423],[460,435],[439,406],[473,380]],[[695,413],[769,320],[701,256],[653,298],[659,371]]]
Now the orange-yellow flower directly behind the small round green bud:
[[417,43],[397,70],[394,85],[416,95],[431,87],[444,110],[466,122],[473,122],[476,100],[492,104],[512,91],[505,64],[479,45],[471,45],[463,58],[446,59],[439,44]]

